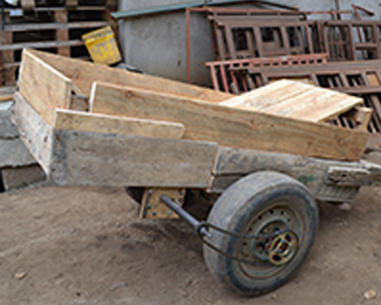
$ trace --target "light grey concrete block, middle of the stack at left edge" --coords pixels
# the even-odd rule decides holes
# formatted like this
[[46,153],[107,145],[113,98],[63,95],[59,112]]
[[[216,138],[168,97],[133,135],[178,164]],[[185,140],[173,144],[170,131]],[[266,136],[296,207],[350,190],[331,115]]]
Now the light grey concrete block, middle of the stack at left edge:
[[35,158],[20,138],[0,138],[0,167],[16,167],[35,164]]

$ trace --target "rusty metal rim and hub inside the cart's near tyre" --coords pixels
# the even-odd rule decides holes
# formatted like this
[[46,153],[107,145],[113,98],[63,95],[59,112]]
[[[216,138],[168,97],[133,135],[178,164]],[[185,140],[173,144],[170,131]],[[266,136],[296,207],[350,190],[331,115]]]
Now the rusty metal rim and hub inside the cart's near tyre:
[[[269,278],[284,269],[297,254],[299,243],[303,240],[305,224],[302,219],[299,211],[292,208],[288,200],[273,202],[254,215],[243,234],[274,235],[270,238],[240,240],[237,250],[239,258],[256,262],[238,262],[240,269],[253,279]],[[284,246],[281,242],[284,242]],[[281,253],[280,258],[276,256],[277,250]]]

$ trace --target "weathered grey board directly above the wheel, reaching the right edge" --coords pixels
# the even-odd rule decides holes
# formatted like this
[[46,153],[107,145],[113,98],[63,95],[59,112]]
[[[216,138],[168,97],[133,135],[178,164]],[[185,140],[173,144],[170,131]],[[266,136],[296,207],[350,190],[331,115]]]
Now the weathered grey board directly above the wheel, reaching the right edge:
[[361,186],[381,185],[381,166],[364,160],[344,162],[219,147],[209,191],[221,193],[241,177],[263,170],[287,174],[301,181],[317,199],[327,201],[351,201]]

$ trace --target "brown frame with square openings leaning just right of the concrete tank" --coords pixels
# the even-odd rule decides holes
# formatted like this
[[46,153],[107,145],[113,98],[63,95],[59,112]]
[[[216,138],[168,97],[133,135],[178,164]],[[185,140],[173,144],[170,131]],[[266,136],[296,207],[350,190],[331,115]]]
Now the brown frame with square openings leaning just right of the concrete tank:
[[299,17],[211,15],[208,19],[220,60],[313,53],[309,23]]

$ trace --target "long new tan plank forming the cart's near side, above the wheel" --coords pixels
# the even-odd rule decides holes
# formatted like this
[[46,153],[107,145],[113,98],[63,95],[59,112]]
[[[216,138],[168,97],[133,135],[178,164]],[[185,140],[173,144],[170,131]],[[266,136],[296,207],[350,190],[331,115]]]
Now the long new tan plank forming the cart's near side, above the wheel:
[[92,112],[178,121],[185,139],[338,160],[359,160],[368,134],[134,87],[95,83]]

